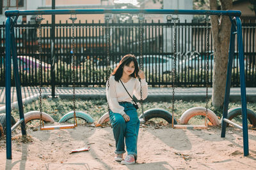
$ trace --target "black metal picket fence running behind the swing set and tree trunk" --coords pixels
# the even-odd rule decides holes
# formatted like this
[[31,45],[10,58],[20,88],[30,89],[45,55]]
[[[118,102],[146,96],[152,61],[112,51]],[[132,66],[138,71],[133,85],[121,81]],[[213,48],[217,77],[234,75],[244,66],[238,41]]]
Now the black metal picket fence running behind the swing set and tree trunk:
[[[212,84],[214,65],[213,43],[211,30],[209,34],[209,52],[206,46],[205,23],[147,23],[143,28],[143,67],[149,85],[172,85],[173,56],[176,56],[175,85],[179,87],[204,87],[206,85],[206,57],[209,58],[209,83]],[[140,55],[138,23],[110,23],[110,64],[111,69],[127,53]],[[173,44],[173,34],[177,31],[177,42]],[[211,29],[211,27],[209,27]],[[246,86],[256,87],[256,24],[243,24],[244,64],[246,68]],[[39,85],[39,54],[38,54],[38,24],[15,25],[15,38],[18,53],[18,65],[21,85]],[[1,63],[0,86],[5,81],[4,55],[4,23],[0,25]],[[77,56],[76,85],[95,86],[105,85],[107,78],[106,60],[106,24],[87,22],[75,24],[75,50]],[[55,25],[55,45],[51,50],[51,24],[42,24],[42,83],[51,86],[72,85],[72,24]],[[173,55],[173,45],[177,53]],[[236,47],[237,49],[237,47]],[[51,53],[54,57],[51,58]],[[53,63],[52,63],[53,62]],[[54,68],[51,67],[54,66]],[[232,69],[232,86],[239,86],[239,63],[235,52]],[[55,79],[51,80],[51,71]],[[14,85],[14,78],[12,78]]]

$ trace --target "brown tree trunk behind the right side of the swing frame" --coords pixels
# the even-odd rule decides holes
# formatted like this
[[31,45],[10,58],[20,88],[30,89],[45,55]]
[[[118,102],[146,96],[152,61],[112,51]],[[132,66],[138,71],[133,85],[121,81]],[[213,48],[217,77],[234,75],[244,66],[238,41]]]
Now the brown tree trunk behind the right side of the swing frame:
[[[210,0],[210,9],[217,10],[217,0]],[[221,0],[221,10],[232,10],[232,0]],[[221,108],[225,97],[231,22],[228,16],[212,15],[211,25],[214,45],[212,106]]]

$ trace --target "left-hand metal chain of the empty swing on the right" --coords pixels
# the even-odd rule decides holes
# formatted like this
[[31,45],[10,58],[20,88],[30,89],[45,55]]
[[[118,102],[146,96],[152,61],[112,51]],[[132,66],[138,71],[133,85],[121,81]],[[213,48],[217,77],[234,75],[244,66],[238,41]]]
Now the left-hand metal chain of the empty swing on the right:
[[174,25],[174,33],[173,33],[173,64],[172,64],[172,127],[174,124],[174,96],[175,96],[175,87],[174,81],[176,78],[176,21],[179,18],[172,18]]

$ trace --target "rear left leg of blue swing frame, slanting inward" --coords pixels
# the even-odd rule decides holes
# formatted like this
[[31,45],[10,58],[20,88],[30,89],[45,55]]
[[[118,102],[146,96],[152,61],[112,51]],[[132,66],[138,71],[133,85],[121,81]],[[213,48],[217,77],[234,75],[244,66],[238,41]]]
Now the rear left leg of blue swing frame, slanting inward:
[[[24,120],[24,111],[23,111],[22,96],[21,96],[21,90],[20,90],[19,67],[18,67],[18,62],[17,62],[17,47],[16,47],[16,43],[15,43],[15,36],[14,36],[14,29],[13,29],[15,23],[13,23],[12,25],[13,26],[11,27],[10,34],[11,34],[11,47],[12,47],[12,60],[13,60],[13,74],[14,74],[14,78],[15,78],[20,120],[22,120],[22,119]],[[21,122],[20,127],[21,127],[22,136],[26,136],[26,127],[25,127],[24,121]]]

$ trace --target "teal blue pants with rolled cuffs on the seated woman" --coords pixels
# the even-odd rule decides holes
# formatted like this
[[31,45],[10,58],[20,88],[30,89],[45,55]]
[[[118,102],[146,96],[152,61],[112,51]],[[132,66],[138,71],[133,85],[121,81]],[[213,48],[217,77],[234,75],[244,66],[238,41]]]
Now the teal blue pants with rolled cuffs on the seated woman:
[[[128,155],[134,155],[137,158],[137,141],[140,129],[140,120],[136,108],[132,103],[120,102],[124,107],[125,113],[130,117],[129,122],[125,122],[122,115],[109,111],[109,118],[113,134],[116,141],[116,154],[125,153],[125,145]],[[125,141],[125,143],[124,143]]]

